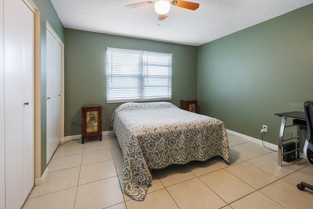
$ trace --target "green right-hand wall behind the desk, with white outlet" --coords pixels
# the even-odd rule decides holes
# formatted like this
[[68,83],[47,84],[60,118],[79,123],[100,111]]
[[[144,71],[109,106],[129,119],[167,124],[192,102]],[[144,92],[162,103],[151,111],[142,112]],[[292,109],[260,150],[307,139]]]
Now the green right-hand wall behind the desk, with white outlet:
[[304,111],[312,89],[313,4],[198,47],[200,113],[226,129],[261,139],[267,125],[278,144],[274,114]]

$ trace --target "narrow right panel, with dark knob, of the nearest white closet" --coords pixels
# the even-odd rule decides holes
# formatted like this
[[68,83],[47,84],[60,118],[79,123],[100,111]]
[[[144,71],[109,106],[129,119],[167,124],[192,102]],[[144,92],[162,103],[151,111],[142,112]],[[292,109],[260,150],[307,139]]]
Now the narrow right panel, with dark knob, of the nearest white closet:
[[23,84],[23,197],[34,186],[34,13],[22,6],[22,84]]

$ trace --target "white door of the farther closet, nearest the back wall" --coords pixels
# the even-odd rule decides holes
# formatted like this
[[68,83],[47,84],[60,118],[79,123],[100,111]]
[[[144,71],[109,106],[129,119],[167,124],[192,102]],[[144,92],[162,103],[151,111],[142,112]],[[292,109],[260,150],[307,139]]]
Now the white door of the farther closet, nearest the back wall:
[[48,164],[61,141],[61,45],[46,29],[47,147]]

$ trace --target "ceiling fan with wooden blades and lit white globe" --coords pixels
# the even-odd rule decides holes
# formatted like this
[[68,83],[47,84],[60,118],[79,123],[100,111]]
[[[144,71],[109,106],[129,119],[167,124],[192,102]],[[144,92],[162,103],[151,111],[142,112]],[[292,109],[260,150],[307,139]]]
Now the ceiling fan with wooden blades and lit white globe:
[[157,13],[157,20],[162,21],[167,18],[166,14],[170,11],[171,4],[185,9],[196,10],[199,8],[199,3],[194,3],[184,0],[149,0],[140,3],[134,3],[126,5],[125,7],[133,9],[139,6],[146,6],[149,4],[155,4],[155,10]]

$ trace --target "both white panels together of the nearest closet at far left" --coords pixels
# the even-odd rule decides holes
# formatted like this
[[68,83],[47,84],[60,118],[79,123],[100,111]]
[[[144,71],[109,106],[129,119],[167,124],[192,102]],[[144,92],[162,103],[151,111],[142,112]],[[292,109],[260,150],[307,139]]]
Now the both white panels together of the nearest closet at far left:
[[5,208],[18,209],[34,185],[34,14],[3,5]]

